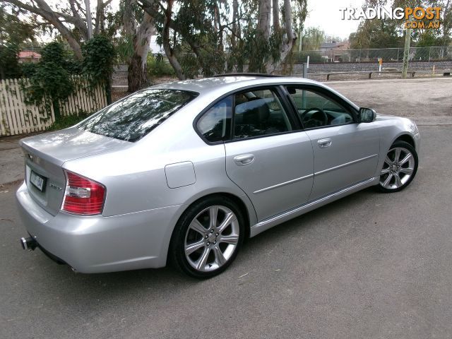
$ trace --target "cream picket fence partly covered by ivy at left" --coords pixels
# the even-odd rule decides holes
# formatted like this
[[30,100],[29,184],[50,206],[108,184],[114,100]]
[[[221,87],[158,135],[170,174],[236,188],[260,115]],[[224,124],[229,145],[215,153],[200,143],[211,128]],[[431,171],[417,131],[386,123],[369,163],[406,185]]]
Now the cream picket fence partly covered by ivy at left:
[[[73,83],[73,93],[66,100],[59,101],[61,115],[93,113],[107,106],[103,86],[90,88],[88,81],[79,77],[73,78]],[[0,136],[44,131],[54,121],[52,104],[28,105],[18,79],[0,81]]]

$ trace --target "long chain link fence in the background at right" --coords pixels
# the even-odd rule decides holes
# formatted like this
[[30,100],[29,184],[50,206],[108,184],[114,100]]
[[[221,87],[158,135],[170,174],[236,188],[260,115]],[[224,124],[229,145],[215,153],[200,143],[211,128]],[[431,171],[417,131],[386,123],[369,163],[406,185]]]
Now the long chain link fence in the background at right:
[[[294,53],[295,64],[307,61],[316,63],[328,62],[377,62],[403,61],[403,48],[375,49],[338,49],[326,48],[317,51],[301,51]],[[452,61],[452,46],[448,47],[412,47],[410,61]]]

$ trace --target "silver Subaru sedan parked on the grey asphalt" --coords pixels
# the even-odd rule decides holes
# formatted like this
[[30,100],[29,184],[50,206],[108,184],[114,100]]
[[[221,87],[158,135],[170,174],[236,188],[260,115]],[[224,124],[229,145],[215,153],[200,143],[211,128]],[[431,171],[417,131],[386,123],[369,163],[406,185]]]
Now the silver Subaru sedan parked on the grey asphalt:
[[209,278],[246,237],[369,186],[404,189],[420,135],[321,83],[230,75],[147,88],[20,145],[24,249],[82,273],[170,261]]

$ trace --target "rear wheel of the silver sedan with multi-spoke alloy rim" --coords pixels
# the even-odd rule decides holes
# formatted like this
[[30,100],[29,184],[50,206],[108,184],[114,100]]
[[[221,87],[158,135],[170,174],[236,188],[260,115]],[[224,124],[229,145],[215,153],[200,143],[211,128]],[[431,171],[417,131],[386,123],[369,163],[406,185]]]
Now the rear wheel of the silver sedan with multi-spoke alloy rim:
[[234,201],[212,196],[190,206],[172,235],[170,256],[194,278],[210,278],[230,266],[244,238],[244,218]]

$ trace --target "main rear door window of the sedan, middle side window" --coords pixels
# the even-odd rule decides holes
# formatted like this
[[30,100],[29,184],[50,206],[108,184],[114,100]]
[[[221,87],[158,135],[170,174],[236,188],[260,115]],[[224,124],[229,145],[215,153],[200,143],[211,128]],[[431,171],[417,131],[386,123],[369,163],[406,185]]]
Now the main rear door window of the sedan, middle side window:
[[234,138],[292,131],[287,112],[273,90],[252,90],[234,98]]

